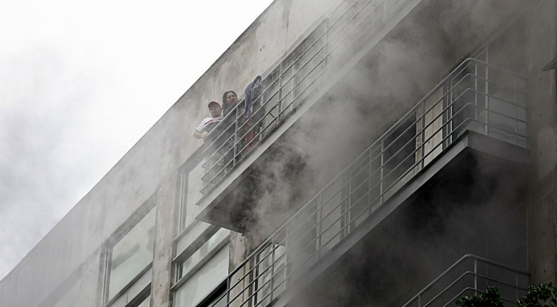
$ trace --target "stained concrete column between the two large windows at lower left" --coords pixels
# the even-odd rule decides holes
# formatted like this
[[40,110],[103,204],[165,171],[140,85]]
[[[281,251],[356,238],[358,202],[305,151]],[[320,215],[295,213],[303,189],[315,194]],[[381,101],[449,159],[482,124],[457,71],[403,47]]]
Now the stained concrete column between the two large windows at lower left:
[[177,221],[177,182],[176,175],[170,176],[157,191],[151,307],[170,306],[170,286],[173,280],[172,249]]

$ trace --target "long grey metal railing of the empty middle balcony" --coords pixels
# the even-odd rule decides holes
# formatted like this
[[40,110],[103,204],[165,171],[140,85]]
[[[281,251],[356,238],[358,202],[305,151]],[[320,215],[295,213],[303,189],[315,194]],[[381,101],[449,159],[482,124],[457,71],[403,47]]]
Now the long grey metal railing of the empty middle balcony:
[[525,147],[525,81],[463,61],[237,266],[220,303],[269,304],[466,130]]

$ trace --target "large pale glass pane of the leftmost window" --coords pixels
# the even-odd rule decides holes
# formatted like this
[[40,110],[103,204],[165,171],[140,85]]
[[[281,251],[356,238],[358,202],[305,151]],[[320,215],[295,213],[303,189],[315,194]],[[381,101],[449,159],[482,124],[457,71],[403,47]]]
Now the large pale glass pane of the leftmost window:
[[154,208],[112,248],[108,299],[112,299],[153,260]]

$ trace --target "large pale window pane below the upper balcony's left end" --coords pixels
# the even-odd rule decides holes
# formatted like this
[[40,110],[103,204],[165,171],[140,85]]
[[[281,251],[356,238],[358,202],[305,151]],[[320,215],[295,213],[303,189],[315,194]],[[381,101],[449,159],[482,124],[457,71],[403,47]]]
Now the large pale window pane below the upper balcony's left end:
[[204,264],[175,294],[176,307],[193,307],[228,275],[228,244]]

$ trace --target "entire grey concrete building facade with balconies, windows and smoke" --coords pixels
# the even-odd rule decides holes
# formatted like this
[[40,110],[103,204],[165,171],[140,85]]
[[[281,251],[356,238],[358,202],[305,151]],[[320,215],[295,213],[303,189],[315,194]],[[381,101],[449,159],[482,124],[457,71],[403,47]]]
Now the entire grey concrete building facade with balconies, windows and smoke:
[[556,26],[555,0],[276,0],[0,306],[512,304],[557,276]]

